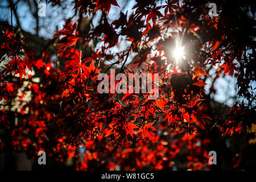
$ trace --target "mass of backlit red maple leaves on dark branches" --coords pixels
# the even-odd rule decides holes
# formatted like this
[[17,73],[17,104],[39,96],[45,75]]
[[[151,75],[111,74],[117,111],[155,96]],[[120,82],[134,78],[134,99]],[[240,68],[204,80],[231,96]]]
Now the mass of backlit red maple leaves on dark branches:
[[[250,100],[255,50],[246,56],[254,46],[249,44],[251,36],[241,42],[235,28],[225,27],[228,20],[210,18],[207,2],[200,3],[168,0],[159,5],[158,1],[136,0],[129,15],[121,11],[110,22],[112,5],[120,7],[117,1],[76,1],[73,6],[80,15],[101,12],[100,24],[82,34],[78,21],[66,20],[63,30],[54,35],[56,52],[44,51],[36,59],[24,38],[9,30],[2,33],[0,62],[9,61],[1,65],[0,100],[5,101],[0,126],[9,134],[9,147],[26,151],[32,159],[41,150],[60,162],[75,158],[76,169],[121,166],[125,170],[172,169],[185,150],[187,168],[208,169],[212,127],[222,137],[245,135],[246,127],[255,122],[250,119],[255,105],[237,102],[228,113],[212,115],[204,92],[206,78],[226,73],[237,77],[238,95]],[[115,52],[122,38],[125,49]],[[177,40],[185,47],[185,58],[179,62],[170,53]],[[86,54],[85,48],[95,42],[101,43],[97,51]],[[159,97],[150,100],[148,92],[99,93],[98,74],[109,73],[116,65],[120,68],[115,75],[158,73]],[[218,67],[215,76],[209,67]],[[28,70],[40,71],[40,81],[33,81],[36,76]],[[10,113],[18,120],[15,125]],[[0,149],[6,146],[0,138]],[[81,146],[86,148],[84,154],[77,150]]]

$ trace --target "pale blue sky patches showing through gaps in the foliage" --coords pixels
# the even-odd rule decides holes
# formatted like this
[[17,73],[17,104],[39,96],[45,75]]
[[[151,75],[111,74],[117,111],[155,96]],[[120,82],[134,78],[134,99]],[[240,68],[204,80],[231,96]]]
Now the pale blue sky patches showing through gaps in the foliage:
[[[38,0],[38,2],[40,1]],[[56,32],[56,27],[57,27],[57,30],[61,30],[63,28],[63,25],[65,23],[64,20],[72,17],[75,13],[75,10],[72,10],[73,4],[70,2],[72,1],[68,0],[68,1],[64,1],[61,4],[61,6],[66,7],[62,12],[60,12],[60,10],[56,6],[52,7],[49,4],[47,5],[46,17],[40,18],[40,24],[42,24],[43,28],[40,28],[39,36],[42,36],[43,38],[46,38],[46,39],[51,39]],[[126,5],[126,1],[117,0],[117,2],[120,7],[112,6],[109,11],[108,20],[110,23],[113,22],[114,19],[118,18],[116,16],[119,15],[120,11],[122,11],[123,13],[127,12],[127,15],[129,15],[131,11],[133,11],[131,10],[132,7],[135,5],[135,1],[129,1],[127,5]],[[7,1],[2,1],[0,5],[7,6]],[[19,9],[17,11],[18,11],[18,14],[21,15],[20,22],[22,23],[21,26],[23,30],[31,32],[31,34],[35,34],[34,32],[35,20],[33,19],[29,11],[29,7],[23,4],[20,4],[20,5],[18,4],[18,6],[19,6]],[[6,19],[9,21],[9,23],[11,23],[10,16],[11,15],[10,15],[9,9],[2,9],[0,14],[0,19],[2,20]],[[74,19],[75,18],[76,16],[74,16]],[[96,17],[93,19],[94,26],[97,25],[98,20],[100,20],[100,12],[97,12]],[[13,24],[14,25],[16,24],[15,18],[13,18]],[[101,44],[97,45],[97,47],[101,47],[101,46],[102,46]],[[122,49],[122,47],[125,47],[125,46],[127,46],[127,41],[123,40],[118,47],[119,51],[120,49]],[[117,47],[112,48],[113,52],[117,52],[118,48]],[[131,58],[133,56],[134,55],[131,54],[127,63],[130,63]],[[212,80],[213,78],[208,77],[207,80],[205,81],[205,83],[208,84],[208,85],[205,85],[205,92],[207,93],[209,92],[209,88],[212,83]],[[253,82],[253,87],[255,88],[255,86],[256,86],[256,83]],[[214,97],[214,100],[224,103],[228,106],[234,105],[234,102],[236,101],[236,95],[237,95],[236,78],[230,77],[229,75],[226,75],[225,77],[220,77],[216,80],[216,82],[214,82],[214,87],[217,90],[217,93],[214,94],[214,96],[212,96]]]

